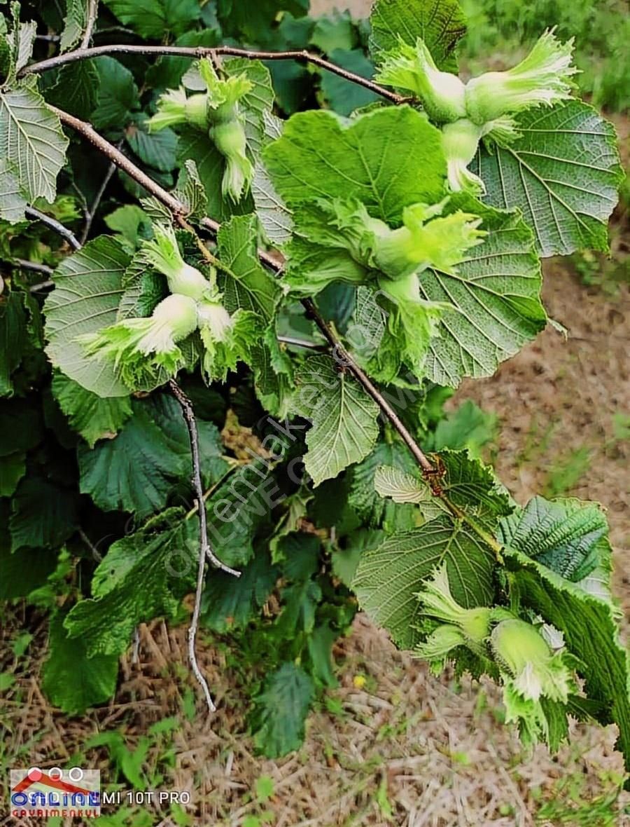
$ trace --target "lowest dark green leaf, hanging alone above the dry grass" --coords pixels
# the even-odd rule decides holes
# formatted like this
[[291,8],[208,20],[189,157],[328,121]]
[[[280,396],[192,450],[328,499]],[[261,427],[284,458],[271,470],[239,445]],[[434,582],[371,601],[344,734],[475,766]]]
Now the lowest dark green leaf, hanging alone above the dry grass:
[[294,663],[283,663],[272,672],[263,692],[253,699],[253,743],[258,751],[279,758],[300,748],[314,695],[310,676]]

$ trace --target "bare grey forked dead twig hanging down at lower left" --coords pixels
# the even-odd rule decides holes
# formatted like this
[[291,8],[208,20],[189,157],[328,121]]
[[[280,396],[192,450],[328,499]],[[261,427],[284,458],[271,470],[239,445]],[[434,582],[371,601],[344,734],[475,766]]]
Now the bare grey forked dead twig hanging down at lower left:
[[197,662],[197,653],[195,651],[195,639],[197,638],[197,629],[199,629],[199,614],[201,612],[201,595],[203,594],[203,583],[206,575],[206,557],[222,571],[227,571],[228,574],[235,577],[240,576],[240,571],[225,566],[216,554],[212,551],[210,541],[208,540],[208,526],[206,520],[206,509],[203,505],[203,483],[201,482],[201,464],[199,458],[199,433],[197,432],[197,420],[195,419],[195,412],[192,409],[192,402],[187,395],[179,387],[178,383],[172,379],[168,386],[173,393],[175,399],[178,400],[184,419],[186,420],[186,427],[188,429],[188,436],[190,437],[191,452],[192,452],[192,485],[196,493],[196,501],[199,511],[199,561],[197,566],[197,590],[195,591],[195,605],[192,609],[191,624],[188,627],[188,658],[191,663],[192,672],[197,678],[198,683],[206,696],[206,704],[208,710],[216,712],[216,706],[212,700],[210,689],[206,678],[203,676],[199,664]]

